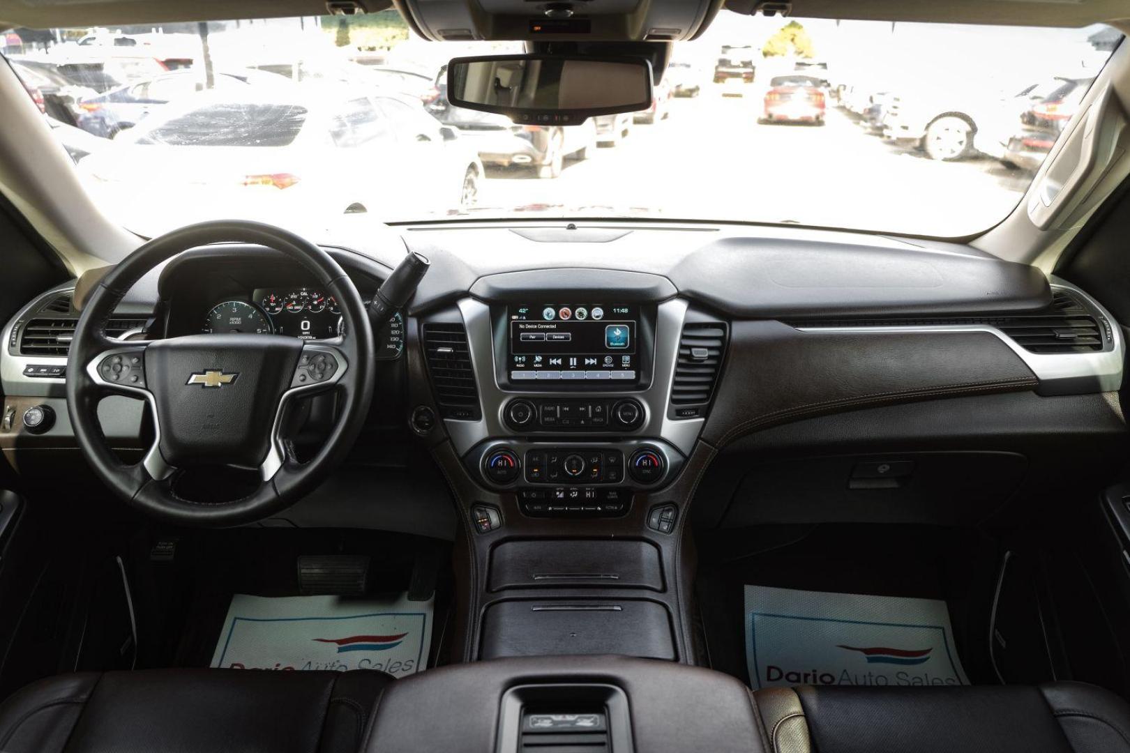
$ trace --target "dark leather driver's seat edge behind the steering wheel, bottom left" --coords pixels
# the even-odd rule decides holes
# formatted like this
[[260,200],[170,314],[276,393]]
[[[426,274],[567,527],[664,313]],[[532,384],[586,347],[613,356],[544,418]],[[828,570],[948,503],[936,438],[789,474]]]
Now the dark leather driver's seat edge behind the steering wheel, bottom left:
[[0,704],[3,753],[356,753],[383,672],[77,673]]

